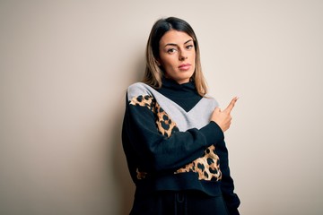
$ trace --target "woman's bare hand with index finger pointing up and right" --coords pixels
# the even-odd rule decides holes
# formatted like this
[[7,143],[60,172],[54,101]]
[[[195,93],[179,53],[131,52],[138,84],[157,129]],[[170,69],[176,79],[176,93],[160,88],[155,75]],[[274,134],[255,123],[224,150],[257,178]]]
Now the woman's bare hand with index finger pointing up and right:
[[223,111],[220,107],[215,107],[214,112],[211,116],[211,121],[214,121],[220,128],[225,132],[230,128],[231,125],[231,110],[237,102],[238,97],[235,97],[231,100],[228,107],[226,107]]

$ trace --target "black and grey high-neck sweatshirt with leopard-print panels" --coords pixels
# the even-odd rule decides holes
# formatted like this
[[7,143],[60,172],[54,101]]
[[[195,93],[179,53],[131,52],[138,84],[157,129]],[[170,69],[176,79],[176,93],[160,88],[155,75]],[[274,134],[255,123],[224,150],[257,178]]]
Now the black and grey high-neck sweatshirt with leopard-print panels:
[[161,89],[143,82],[128,87],[122,142],[136,194],[222,194],[230,213],[239,214],[223,131],[210,122],[217,106],[198,95],[194,82],[163,79]]

